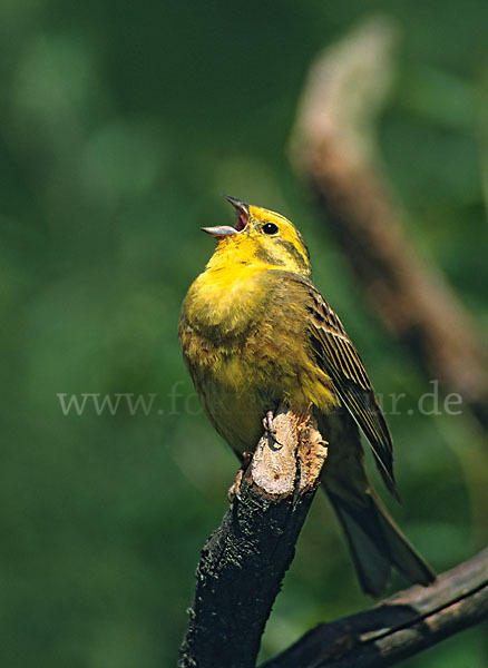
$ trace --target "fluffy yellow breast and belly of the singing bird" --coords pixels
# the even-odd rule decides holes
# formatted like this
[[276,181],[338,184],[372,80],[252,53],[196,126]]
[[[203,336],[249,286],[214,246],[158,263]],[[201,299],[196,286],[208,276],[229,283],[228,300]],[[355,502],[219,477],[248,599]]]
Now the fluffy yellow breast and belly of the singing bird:
[[306,311],[286,287],[286,272],[237,265],[202,274],[184,303],[184,356],[208,416],[235,450],[255,446],[262,418],[282,401],[295,412],[336,404],[311,355]]

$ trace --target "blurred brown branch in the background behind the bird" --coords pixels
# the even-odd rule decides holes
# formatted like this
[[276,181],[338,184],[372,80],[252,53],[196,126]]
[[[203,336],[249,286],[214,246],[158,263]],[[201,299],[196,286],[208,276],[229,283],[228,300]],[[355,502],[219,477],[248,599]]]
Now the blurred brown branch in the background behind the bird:
[[452,289],[420,257],[375,159],[374,127],[389,90],[397,28],[370,20],[312,66],[292,159],[389,331],[488,426],[480,336]]

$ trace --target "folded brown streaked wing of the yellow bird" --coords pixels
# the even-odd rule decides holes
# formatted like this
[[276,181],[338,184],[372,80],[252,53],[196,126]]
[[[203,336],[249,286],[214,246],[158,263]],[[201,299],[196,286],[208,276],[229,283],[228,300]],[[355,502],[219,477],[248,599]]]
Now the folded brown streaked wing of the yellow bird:
[[309,335],[316,361],[364,432],[387,488],[398,498],[390,430],[364,365],[334,311],[312,284],[308,284],[308,293]]

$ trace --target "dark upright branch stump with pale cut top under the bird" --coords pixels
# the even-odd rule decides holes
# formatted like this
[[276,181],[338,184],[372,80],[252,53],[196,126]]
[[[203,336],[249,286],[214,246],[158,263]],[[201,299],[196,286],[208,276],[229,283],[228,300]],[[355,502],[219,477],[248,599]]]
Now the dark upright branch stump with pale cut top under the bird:
[[180,668],[254,668],[261,636],[326,455],[308,420],[280,412],[202,551]]

